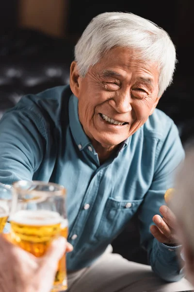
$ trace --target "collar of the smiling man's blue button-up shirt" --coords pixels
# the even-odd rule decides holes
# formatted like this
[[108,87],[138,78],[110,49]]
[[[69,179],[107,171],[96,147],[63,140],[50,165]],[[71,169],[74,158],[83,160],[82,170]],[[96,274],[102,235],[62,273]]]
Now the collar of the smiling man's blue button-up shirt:
[[[91,145],[89,138],[86,136],[81,126],[78,114],[78,98],[74,94],[72,94],[69,99],[69,124],[73,138],[80,150],[84,149],[86,146]],[[121,149],[128,146],[130,138],[131,137],[120,144],[118,153],[121,151]]]

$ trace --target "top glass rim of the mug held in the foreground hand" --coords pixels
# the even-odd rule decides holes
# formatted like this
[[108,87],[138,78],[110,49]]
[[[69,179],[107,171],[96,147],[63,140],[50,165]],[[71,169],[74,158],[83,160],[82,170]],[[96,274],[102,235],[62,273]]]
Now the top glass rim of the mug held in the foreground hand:
[[[32,186],[32,185],[40,185],[40,186],[54,186],[56,189],[53,190],[53,191],[49,191],[49,190],[33,190],[33,189],[25,189],[25,188],[22,188],[22,183],[26,183],[26,184],[29,184],[29,188]],[[24,185],[24,184],[23,184]],[[41,193],[47,193],[47,194],[51,194],[53,192],[53,195],[54,196],[65,196],[66,195],[66,188],[61,185],[61,184],[58,184],[58,183],[47,183],[47,182],[44,182],[44,181],[27,181],[27,180],[19,180],[17,182],[14,182],[12,184],[12,187],[13,187],[13,190],[14,191],[18,191],[20,194],[32,194],[34,192],[38,193],[40,196],[41,196]]]

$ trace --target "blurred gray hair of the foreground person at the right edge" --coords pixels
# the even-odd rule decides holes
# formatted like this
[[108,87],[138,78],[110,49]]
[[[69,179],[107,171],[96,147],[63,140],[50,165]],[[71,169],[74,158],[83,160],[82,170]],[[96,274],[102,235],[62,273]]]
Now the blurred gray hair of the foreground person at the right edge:
[[194,252],[194,145],[185,149],[185,160],[177,173],[175,193],[169,207],[184,228],[187,241]]

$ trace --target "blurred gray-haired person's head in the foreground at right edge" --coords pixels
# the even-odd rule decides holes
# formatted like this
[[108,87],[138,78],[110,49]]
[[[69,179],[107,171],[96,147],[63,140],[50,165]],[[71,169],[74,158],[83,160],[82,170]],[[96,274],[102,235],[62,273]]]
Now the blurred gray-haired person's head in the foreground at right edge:
[[178,171],[175,192],[168,205],[177,218],[174,228],[181,244],[180,262],[194,285],[194,145],[186,146],[186,158]]

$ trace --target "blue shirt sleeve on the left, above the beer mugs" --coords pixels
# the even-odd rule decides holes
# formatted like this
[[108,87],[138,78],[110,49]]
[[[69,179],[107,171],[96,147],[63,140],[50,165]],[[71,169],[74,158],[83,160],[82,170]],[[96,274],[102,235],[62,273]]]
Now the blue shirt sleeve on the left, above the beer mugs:
[[1,183],[32,180],[45,148],[41,127],[40,115],[32,110],[14,108],[4,114],[0,120]]

